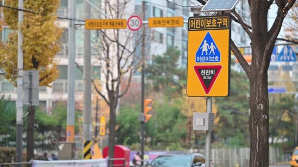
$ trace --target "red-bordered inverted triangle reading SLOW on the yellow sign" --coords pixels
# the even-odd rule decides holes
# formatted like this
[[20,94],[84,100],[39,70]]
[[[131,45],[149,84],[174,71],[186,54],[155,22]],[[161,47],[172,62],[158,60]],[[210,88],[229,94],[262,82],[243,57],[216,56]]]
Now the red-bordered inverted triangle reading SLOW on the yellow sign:
[[194,69],[199,78],[200,83],[206,94],[209,94],[218,74],[220,73],[221,65],[195,65]]

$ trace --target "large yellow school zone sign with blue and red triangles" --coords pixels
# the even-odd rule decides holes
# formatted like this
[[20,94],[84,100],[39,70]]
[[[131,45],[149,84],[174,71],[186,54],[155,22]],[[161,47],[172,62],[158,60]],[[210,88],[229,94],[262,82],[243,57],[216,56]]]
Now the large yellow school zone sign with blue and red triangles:
[[188,96],[229,96],[230,40],[230,17],[203,16],[189,18]]

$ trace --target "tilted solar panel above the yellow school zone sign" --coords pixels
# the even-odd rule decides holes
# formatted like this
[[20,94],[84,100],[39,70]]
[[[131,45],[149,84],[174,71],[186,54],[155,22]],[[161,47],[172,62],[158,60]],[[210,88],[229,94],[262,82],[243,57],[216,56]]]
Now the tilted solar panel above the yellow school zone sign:
[[208,0],[201,11],[231,11],[235,8],[239,0]]

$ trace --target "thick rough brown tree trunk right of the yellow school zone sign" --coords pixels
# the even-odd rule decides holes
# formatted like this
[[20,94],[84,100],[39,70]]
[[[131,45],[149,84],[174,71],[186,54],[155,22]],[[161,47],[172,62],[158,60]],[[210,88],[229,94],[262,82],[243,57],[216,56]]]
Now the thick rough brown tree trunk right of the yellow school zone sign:
[[249,167],[269,166],[269,99],[267,71],[252,73],[250,80]]

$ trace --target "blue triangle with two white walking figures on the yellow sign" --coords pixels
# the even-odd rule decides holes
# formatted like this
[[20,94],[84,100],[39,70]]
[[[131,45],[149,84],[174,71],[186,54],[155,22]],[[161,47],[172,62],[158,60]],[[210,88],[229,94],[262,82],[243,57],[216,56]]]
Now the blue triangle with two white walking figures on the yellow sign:
[[196,53],[196,63],[221,62],[221,52],[213,41],[209,32],[199,45]]

